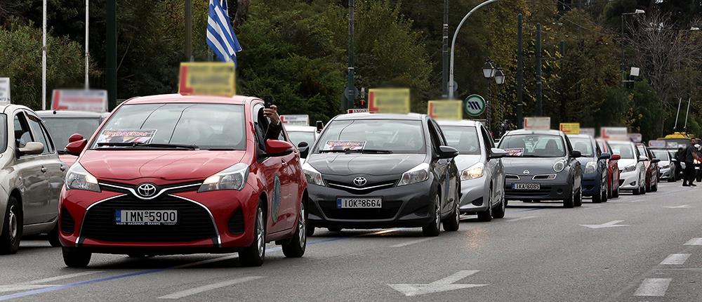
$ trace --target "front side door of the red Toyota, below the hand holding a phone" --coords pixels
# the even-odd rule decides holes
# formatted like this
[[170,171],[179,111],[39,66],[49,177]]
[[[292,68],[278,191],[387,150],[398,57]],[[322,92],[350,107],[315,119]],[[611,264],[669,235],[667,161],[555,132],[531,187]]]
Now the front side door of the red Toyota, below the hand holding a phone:
[[280,208],[282,204],[282,171],[281,157],[270,157],[265,154],[265,133],[269,121],[263,116],[263,103],[254,103],[251,110],[251,119],[255,129],[257,160],[260,163],[261,173],[268,193],[268,213],[266,230],[268,234],[285,230]]

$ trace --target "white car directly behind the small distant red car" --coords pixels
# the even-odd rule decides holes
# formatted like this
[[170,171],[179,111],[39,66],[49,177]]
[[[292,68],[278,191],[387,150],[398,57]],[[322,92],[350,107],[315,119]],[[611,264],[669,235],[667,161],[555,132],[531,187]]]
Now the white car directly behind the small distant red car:
[[610,140],[609,145],[613,154],[618,154],[619,190],[630,190],[634,195],[646,194],[646,166],[649,160],[639,154],[636,145],[627,141]]

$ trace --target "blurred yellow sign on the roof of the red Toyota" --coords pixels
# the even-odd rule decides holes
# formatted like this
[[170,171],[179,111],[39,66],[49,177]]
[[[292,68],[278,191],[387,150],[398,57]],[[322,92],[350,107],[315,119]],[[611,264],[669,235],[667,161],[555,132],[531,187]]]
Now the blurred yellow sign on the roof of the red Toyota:
[[233,62],[180,63],[180,94],[234,96],[237,94],[236,83]]

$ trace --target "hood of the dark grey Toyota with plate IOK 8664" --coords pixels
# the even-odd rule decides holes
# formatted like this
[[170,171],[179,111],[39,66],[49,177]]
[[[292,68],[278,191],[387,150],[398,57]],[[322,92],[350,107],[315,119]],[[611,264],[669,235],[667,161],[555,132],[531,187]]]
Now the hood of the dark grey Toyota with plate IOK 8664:
[[391,175],[402,174],[425,162],[427,155],[417,154],[345,154],[317,153],[307,157],[307,164],[319,173],[338,176],[355,174]]

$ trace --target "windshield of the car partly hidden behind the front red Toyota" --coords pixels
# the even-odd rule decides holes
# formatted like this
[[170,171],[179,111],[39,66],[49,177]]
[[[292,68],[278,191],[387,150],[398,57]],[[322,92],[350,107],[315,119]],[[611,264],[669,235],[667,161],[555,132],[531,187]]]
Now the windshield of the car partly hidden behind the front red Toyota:
[[100,126],[98,117],[42,117],[44,124],[57,145],[65,145],[68,138],[75,133],[84,138],[93,136]]

